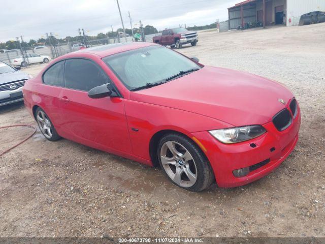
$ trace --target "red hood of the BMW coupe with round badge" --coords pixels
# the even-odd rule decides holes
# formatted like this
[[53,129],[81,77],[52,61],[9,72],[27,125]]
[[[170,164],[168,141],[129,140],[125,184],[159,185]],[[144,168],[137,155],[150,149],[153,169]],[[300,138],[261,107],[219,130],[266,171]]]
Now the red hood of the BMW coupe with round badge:
[[257,75],[205,66],[168,83],[132,92],[131,100],[202,114],[233,126],[263,125],[293,94]]

